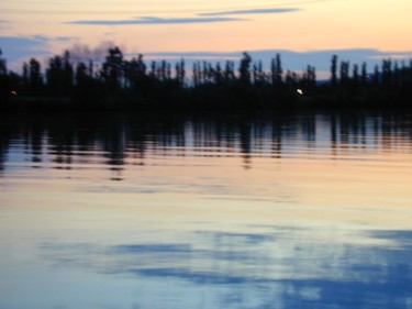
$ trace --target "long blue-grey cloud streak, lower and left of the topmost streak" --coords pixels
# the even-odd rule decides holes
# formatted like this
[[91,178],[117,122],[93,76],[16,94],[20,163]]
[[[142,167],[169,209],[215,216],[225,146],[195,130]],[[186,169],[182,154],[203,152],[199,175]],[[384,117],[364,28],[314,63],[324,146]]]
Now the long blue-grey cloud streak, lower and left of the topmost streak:
[[69,24],[90,24],[90,25],[127,25],[127,24],[188,24],[188,23],[215,23],[215,22],[233,22],[244,19],[236,18],[180,18],[164,19],[156,16],[142,16],[130,20],[90,20],[90,21],[73,21]]

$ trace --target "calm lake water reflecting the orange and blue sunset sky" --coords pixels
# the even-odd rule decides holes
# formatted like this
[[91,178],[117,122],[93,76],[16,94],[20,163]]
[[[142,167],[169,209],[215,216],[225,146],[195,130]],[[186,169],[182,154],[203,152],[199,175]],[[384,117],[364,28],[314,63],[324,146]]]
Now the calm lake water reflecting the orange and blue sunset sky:
[[1,309],[412,308],[412,113],[0,117]]

